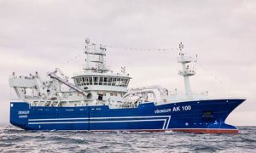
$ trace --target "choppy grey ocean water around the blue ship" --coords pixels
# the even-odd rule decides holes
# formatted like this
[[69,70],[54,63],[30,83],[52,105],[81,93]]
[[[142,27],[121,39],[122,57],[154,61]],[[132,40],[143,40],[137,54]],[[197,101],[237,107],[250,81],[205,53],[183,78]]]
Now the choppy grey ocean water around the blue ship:
[[239,134],[30,132],[0,125],[0,152],[256,152],[256,127]]

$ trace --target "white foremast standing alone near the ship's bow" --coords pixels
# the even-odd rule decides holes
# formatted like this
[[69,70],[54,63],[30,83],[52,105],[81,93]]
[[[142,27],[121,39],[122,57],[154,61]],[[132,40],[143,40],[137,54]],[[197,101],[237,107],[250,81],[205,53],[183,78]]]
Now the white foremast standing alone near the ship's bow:
[[179,44],[179,58],[178,63],[182,64],[182,71],[179,71],[178,74],[183,76],[184,79],[184,85],[185,85],[185,94],[190,96],[192,94],[190,83],[189,83],[189,77],[195,75],[195,71],[191,70],[189,67],[189,63],[192,61],[192,58],[189,56],[185,56],[183,53],[183,43],[180,42]]

